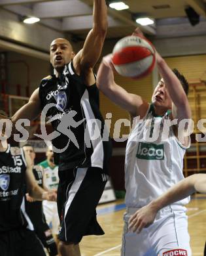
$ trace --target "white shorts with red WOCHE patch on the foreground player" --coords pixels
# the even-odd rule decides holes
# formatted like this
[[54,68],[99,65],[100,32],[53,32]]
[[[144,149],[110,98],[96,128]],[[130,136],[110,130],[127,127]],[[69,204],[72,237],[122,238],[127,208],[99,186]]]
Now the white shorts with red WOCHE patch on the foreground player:
[[188,217],[184,207],[167,207],[158,218],[140,234],[128,230],[129,217],[137,209],[129,208],[124,215],[121,256],[191,256]]

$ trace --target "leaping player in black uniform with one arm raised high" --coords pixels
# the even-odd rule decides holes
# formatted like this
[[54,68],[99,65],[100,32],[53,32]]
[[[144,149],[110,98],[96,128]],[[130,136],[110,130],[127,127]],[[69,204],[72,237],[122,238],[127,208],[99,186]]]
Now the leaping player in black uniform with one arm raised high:
[[[11,118],[13,123],[20,118],[35,119],[44,106],[53,104],[47,116],[54,130],[60,131],[60,136],[52,140],[53,149],[54,146],[58,149],[67,146],[63,152],[55,154],[55,162],[59,165],[60,176],[60,252],[69,256],[80,255],[78,243],[82,236],[104,234],[97,223],[95,207],[107,182],[111,142],[108,138],[102,139],[104,121],[99,112],[99,91],[92,69],[99,59],[107,32],[105,0],[94,0],[93,18],[93,28],[76,55],[66,39],[52,41],[50,62],[54,75],[44,78],[29,102]],[[91,124],[89,119],[99,119],[100,123]],[[60,125],[61,121],[66,122],[63,123],[65,127]],[[92,140],[91,128],[99,129],[101,136]]]

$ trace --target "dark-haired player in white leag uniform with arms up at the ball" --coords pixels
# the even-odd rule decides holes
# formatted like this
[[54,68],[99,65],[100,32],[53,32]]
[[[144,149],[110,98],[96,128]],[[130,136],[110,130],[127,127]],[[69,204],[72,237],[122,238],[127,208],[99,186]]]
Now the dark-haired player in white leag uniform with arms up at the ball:
[[[141,35],[141,32],[136,30],[134,34]],[[140,234],[128,229],[129,219],[138,209],[184,179],[183,158],[190,146],[190,138],[184,136],[184,129],[177,133],[180,121],[191,117],[186,96],[188,83],[177,70],[173,72],[158,53],[156,64],[162,79],[154,89],[151,104],[141,95],[128,93],[115,83],[111,54],[103,58],[97,73],[99,90],[128,110],[131,119],[139,117],[135,118],[126,146],[127,211],[124,215],[122,256],[165,256],[173,255],[174,251],[176,255],[182,252],[183,255],[191,255],[184,207],[189,198],[160,210],[156,221]],[[170,121],[175,119],[177,125],[171,127]],[[163,138],[164,129],[169,132]]]

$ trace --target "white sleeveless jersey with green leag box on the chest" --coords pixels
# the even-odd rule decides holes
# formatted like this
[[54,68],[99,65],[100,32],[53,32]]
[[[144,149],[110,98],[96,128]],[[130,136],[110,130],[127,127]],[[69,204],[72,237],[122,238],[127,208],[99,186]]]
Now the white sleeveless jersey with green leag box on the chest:
[[[127,207],[143,207],[184,179],[186,147],[175,137],[169,123],[169,112],[162,117],[155,116],[152,104],[146,116],[135,123],[126,146]],[[190,197],[174,205],[189,201]]]

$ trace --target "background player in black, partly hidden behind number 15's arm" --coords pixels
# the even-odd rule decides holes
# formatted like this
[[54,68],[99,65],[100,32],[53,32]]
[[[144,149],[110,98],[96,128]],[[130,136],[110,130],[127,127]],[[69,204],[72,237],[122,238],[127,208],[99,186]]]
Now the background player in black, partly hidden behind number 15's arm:
[[[33,166],[33,175],[37,181],[37,184],[43,188],[43,169],[40,165],[34,165],[35,151],[33,146],[26,144],[23,150],[31,158],[31,164]],[[52,236],[52,230],[50,230],[43,213],[43,202],[34,200],[27,194],[26,201],[26,213],[29,215],[33,224],[35,233],[41,240],[44,247],[47,249],[50,256],[58,255],[58,249],[56,242]]]

